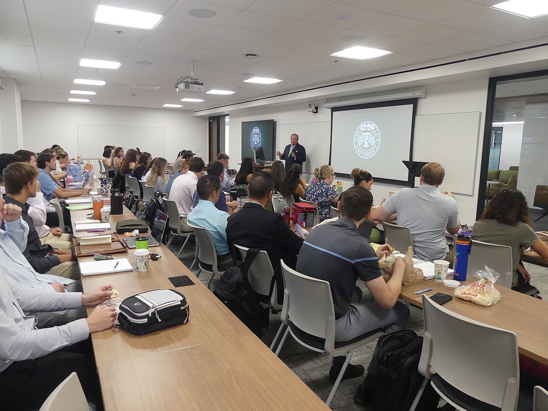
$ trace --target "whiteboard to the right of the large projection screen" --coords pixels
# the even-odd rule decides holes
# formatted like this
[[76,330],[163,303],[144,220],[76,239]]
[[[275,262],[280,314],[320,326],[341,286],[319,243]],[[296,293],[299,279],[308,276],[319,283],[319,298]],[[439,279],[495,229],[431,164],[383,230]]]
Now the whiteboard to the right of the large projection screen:
[[441,191],[473,195],[480,118],[479,111],[415,116],[413,160],[442,165]]

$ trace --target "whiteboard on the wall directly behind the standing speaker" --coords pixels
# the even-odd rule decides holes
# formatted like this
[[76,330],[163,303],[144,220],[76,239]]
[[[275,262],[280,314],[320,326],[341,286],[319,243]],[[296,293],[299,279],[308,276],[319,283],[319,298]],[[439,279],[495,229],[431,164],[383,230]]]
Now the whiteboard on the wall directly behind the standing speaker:
[[330,121],[278,124],[276,127],[276,151],[283,152],[283,149],[290,144],[291,135],[298,134],[299,144],[306,150],[306,161],[302,164],[302,172],[313,174],[316,167],[329,164],[330,133]]

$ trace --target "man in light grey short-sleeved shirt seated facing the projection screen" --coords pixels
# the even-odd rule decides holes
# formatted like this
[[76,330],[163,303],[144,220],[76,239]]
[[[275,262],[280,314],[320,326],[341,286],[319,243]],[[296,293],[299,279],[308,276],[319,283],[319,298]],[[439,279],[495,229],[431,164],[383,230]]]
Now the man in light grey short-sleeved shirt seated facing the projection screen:
[[[439,163],[428,163],[420,172],[420,186],[402,189],[377,208],[372,220],[395,220],[399,226],[409,227],[413,251],[421,260],[442,260],[449,251],[445,231],[459,232],[459,213],[449,192],[440,192],[445,170]],[[405,250],[398,250],[404,252]]]

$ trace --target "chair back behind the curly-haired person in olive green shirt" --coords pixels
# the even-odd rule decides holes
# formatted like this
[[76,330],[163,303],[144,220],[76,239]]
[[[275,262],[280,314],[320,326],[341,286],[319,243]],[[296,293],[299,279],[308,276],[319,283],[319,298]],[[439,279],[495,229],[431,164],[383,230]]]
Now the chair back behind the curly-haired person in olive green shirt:
[[500,274],[496,284],[506,288],[512,287],[512,248],[499,244],[472,240],[468,256],[467,272],[473,276],[473,270],[483,270],[485,266]]

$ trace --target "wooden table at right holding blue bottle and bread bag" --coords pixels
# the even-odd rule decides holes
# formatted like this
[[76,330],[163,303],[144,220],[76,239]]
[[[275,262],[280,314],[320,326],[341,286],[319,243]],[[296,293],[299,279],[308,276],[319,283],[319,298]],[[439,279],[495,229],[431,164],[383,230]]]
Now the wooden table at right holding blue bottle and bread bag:
[[[461,284],[471,284],[476,278],[468,277]],[[510,330],[517,335],[520,353],[548,365],[548,304],[529,295],[512,291],[509,288],[496,286],[501,299],[495,305],[483,307],[470,301],[453,299],[443,306],[447,309],[490,326]],[[432,296],[436,293],[453,295],[454,288],[443,285],[433,279],[423,280],[416,284],[403,286],[400,297],[417,307],[423,306],[421,294],[416,291],[433,288],[424,293]],[[470,336],[473,339],[473,335]]]

